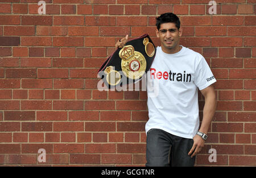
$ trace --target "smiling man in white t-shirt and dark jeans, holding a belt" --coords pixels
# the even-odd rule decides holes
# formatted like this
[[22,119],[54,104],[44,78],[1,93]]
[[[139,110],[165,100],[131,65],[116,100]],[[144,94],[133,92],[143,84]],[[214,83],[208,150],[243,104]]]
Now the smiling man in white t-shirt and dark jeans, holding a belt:
[[[147,82],[157,84],[158,95],[147,90],[146,166],[193,166],[216,109],[216,79],[200,53],[179,45],[182,28],[175,14],[160,15],[156,27],[161,46],[156,47]],[[115,47],[127,40],[128,35]],[[197,88],[205,98],[200,128]]]

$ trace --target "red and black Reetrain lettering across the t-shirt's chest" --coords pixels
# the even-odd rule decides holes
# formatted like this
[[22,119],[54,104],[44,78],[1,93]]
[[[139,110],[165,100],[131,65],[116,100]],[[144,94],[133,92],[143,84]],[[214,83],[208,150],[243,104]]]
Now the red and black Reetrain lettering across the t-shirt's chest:
[[157,79],[164,79],[164,80],[170,80],[170,81],[181,81],[181,82],[191,82],[191,74],[186,73],[184,71],[183,73],[175,73],[175,72],[170,72],[168,73],[167,71],[161,72],[158,71],[156,72],[155,68],[150,68],[150,78],[157,78]]

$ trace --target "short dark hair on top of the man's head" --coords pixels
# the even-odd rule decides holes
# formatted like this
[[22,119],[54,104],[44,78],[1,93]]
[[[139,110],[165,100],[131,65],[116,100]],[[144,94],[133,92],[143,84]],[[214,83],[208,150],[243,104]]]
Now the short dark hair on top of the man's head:
[[164,13],[160,15],[159,17],[156,18],[156,28],[160,28],[160,25],[162,23],[168,23],[168,22],[173,22],[175,23],[175,26],[179,30],[180,28],[180,19],[175,15],[174,13]]

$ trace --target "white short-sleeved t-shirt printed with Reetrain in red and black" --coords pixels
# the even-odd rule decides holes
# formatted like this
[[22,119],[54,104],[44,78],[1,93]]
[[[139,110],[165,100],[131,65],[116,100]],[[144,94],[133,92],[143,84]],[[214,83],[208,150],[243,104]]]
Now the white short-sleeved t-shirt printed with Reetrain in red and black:
[[156,47],[147,72],[147,106],[150,129],[162,129],[183,138],[193,138],[199,129],[198,89],[216,82],[204,57],[183,47],[167,54]]

